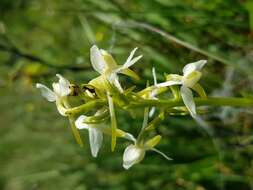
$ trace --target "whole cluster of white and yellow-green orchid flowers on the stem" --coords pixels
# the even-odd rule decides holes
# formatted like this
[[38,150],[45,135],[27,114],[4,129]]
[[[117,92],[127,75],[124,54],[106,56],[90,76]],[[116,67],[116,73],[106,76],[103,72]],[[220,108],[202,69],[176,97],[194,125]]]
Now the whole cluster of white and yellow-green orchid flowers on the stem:
[[[168,74],[164,82],[158,83],[155,69],[153,68],[154,84],[140,91],[135,87],[125,89],[119,80],[119,75],[124,74],[135,80],[140,77],[130,69],[142,55],[134,57],[135,48],[123,65],[118,65],[110,53],[92,46],[90,49],[90,61],[99,76],[87,84],[76,85],[70,83],[60,74],[56,74],[59,81],[52,84],[53,90],[43,84],[37,83],[36,87],[41,90],[49,102],[55,102],[59,113],[68,117],[71,128],[77,142],[82,145],[79,130],[86,129],[89,134],[90,150],[93,157],[103,144],[103,136],[111,136],[111,149],[114,151],[117,138],[130,141],[123,153],[123,167],[129,169],[134,164],[143,160],[147,151],[155,151],[167,160],[171,160],[156,145],[161,136],[150,137],[150,133],[163,120],[166,114],[189,113],[193,118],[197,117],[196,105],[193,92],[200,97],[206,98],[204,89],[198,83],[201,78],[201,70],[206,60],[200,60],[185,65],[183,75]],[[160,95],[168,93],[168,98],[181,100],[182,105],[167,108],[163,106]],[[164,97],[164,96],[163,96]],[[80,105],[73,106],[71,99],[76,98]],[[134,113],[137,108],[144,108],[143,124],[136,137],[123,129],[118,128],[115,108]],[[107,121],[110,120],[111,125]]]

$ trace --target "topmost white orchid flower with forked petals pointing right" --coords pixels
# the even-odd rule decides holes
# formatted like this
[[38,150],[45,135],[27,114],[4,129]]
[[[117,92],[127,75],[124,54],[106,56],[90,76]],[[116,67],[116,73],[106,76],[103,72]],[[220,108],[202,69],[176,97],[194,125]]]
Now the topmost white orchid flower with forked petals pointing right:
[[111,84],[113,84],[120,92],[123,92],[123,89],[120,85],[118,74],[122,73],[125,75],[128,75],[134,79],[139,79],[138,75],[129,69],[130,66],[135,64],[142,55],[138,57],[134,57],[134,53],[137,50],[135,48],[127,58],[126,62],[123,65],[117,65],[116,61],[113,59],[111,54],[109,54],[107,51],[99,49],[96,45],[93,45],[90,49],[90,60],[93,68],[101,74],[100,77],[93,79],[90,81],[90,84],[98,87],[103,84],[103,82],[100,80],[103,80],[103,77],[105,77],[106,80],[108,80]]

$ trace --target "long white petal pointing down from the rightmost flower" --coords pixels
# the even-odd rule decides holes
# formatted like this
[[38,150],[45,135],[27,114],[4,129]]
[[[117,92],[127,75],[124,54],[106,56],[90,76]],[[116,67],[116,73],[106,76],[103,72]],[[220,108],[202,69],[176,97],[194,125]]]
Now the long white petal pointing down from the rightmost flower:
[[182,96],[185,106],[187,107],[187,109],[190,112],[190,114],[192,115],[192,117],[195,117],[196,106],[195,106],[195,102],[193,99],[192,91],[183,85],[180,88],[180,92],[181,92],[181,96]]

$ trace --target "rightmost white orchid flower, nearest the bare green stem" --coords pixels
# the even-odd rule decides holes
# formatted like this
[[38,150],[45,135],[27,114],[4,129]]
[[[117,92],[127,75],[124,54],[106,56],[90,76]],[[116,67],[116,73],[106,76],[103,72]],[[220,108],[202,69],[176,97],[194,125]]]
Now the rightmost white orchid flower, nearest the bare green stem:
[[181,85],[180,93],[183,102],[194,118],[196,117],[197,113],[196,105],[193,99],[193,93],[191,90],[196,91],[201,97],[206,97],[204,89],[198,84],[198,81],[202,75],[201,69],[206,63],[206,60],[189,63],[183,68],[183,76],[171,74],[168,75],[166,82],[156,85],[158,88],[172,85]]

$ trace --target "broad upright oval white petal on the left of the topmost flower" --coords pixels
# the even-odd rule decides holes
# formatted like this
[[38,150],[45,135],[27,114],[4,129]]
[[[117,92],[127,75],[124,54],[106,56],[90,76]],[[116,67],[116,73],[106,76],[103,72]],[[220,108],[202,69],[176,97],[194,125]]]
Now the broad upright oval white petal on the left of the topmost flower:
[[101,54],[100,50],[98,49],[96,45],[93,45],[90,48],[90,61],[91,61],[92,67],[97,72],[102,74],[106,68],[106,62],[103,58],[103,55]]

